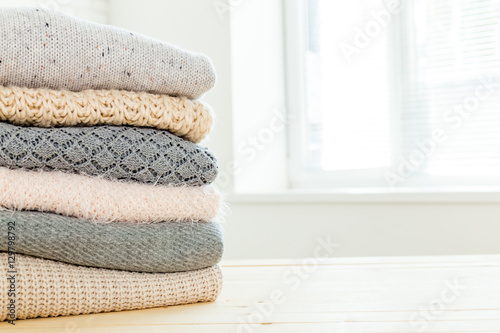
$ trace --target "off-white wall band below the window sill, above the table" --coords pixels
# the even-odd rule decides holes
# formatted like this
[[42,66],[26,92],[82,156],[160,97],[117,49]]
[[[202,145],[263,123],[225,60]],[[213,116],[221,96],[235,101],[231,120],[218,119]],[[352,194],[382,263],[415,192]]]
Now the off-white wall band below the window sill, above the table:
[[337,256],[500,253],[498,204],[238,203],[226,258],[311,256],[317,238]]

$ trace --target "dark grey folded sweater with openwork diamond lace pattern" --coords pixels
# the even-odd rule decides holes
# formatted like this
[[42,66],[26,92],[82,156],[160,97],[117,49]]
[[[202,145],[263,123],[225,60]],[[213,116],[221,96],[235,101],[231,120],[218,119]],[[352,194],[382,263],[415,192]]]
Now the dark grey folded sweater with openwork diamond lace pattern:
[[201,186],[215,156],[167,131],[123,126],[20,127],[0,123],[0,166],[61,170],[160,185]]

